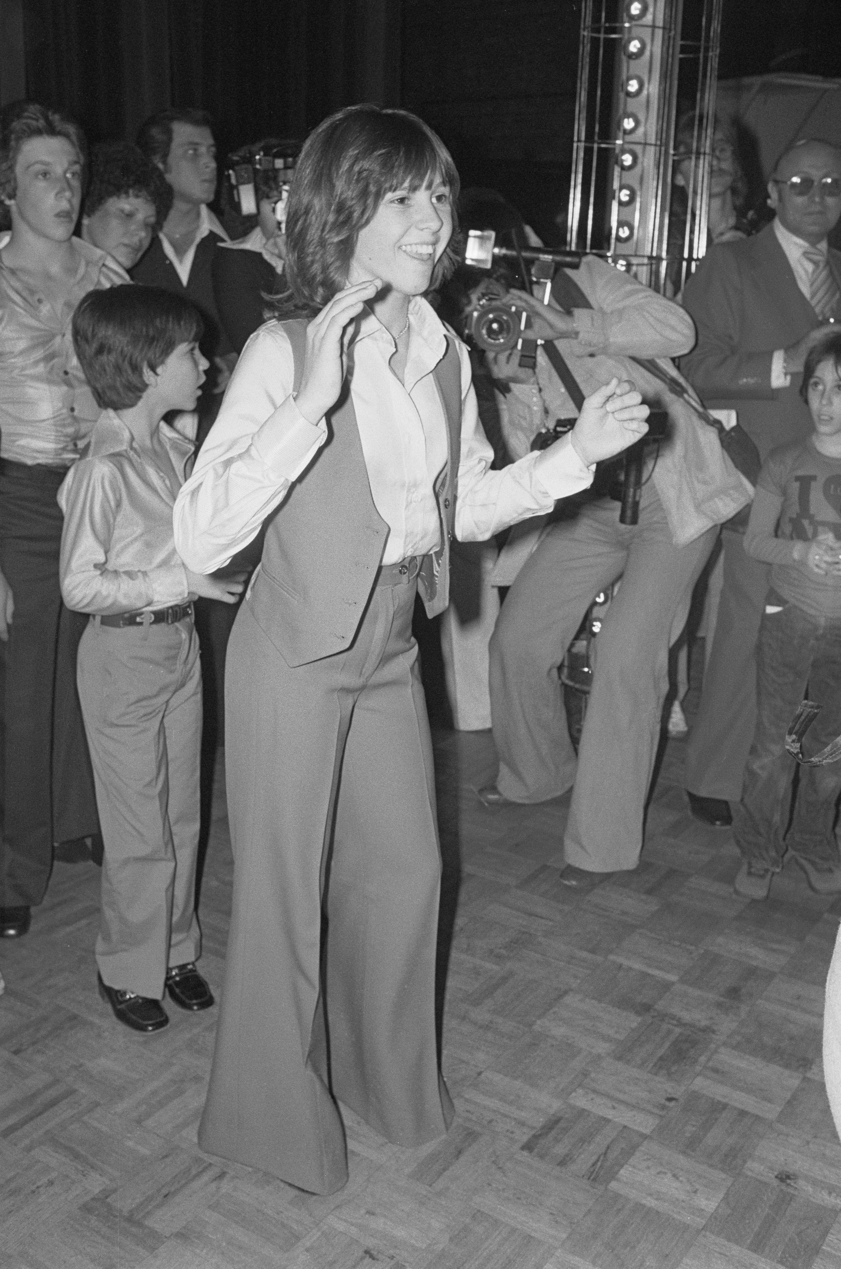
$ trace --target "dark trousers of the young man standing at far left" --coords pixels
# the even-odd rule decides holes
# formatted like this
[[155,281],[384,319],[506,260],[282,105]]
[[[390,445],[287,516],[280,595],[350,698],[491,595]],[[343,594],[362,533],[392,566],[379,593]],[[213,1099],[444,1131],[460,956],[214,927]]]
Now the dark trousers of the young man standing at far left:
[[64,480],[50,467],[0,470],[0,570],[14,615],[0,643],[0,907],[34,906],[55,841],[99,832],[76,695],[76,648],[88,623],[61,602]]

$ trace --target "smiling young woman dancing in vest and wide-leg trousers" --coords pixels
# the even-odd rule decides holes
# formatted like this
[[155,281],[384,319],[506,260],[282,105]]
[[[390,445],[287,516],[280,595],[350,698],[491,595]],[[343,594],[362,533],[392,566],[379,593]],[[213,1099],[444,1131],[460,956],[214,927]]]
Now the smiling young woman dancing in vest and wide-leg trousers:
[[645,431],[614,379],[570,437],[490,471],[466,349],[423,298],[454,264],[457,190],[440,138],[403,110],[315,129],[286,260],[311,320],[248,341],[175,508],[201,572],[266,525],[227,652],[234,910],[199,1142],[321,1194],[347,1180],[339,1103],[405,1146],[454,1113],[415,591],[441,612],[451,536],[550,510]]

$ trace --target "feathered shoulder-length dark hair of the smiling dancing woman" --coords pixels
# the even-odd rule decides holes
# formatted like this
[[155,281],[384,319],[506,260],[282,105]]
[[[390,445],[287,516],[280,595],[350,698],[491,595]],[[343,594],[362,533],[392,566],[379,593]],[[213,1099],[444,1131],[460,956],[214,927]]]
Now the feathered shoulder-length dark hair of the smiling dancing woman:
[[[360,231],[386,194],[415,190],[428,180],[450,187],[455,206],[459,173],[432,128],[408,110],[351,105],[304,142],[286,218],[286,277],[290,293],[276,311],[315,313],[347,286]],[[454,222],[454,237],[456,225]],[[432,274],[432,288],[452,273],[452,239]]]

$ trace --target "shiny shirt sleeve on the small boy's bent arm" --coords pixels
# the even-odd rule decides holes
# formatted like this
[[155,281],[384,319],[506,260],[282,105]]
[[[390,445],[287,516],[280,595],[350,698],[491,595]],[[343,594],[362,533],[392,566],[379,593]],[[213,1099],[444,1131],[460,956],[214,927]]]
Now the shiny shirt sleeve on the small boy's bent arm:
[[141,608],[183,604],[189,596],[184,565],[109,569],[121,487],[109,463],[81,459],[58,490],[65,523],[61,534],[61,596],[74,612],[111,617]]

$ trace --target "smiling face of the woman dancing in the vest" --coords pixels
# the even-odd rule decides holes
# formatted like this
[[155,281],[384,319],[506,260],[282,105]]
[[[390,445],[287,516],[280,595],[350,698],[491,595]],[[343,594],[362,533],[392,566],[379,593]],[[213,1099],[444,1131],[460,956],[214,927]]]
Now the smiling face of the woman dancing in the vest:
[[360,231],[348,282],[381,278],[384,291],[422,296],[452,235],[450,187],[438,178],[386,194]]

